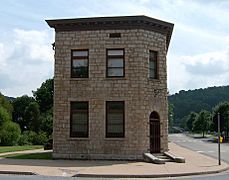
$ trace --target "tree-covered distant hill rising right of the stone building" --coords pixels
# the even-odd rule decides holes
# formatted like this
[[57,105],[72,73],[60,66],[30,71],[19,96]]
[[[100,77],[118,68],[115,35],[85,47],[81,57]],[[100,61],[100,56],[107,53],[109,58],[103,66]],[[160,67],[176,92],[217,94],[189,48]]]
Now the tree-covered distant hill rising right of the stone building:
[[179,123],[181,118],[189,112],[199,112],[202,109],[208,111],[221,101],[229,101],[229,86],[208,87],[184,91],[169,96],[169,103],[174,105],[175,122]]

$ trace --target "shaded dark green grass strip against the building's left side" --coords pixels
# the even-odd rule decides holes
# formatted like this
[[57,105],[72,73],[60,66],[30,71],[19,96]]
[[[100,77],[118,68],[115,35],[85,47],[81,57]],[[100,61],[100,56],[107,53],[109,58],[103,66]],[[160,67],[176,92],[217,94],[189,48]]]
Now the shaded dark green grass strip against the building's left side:
[[5,158],[9,159],[52,159],[52,153],[51,152],[45,152],[45,153],[33,153],[33,154],[11,154],[3,156]]

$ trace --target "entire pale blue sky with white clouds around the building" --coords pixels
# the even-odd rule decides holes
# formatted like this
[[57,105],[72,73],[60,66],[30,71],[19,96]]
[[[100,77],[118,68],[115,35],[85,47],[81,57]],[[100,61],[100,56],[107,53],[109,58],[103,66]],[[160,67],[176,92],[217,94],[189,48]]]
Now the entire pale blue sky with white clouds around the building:
[[46,19],[146,15],[174,23],[168,90],[229,85],[228,0],[1,0],[0,92],[32,95],[53,77]]

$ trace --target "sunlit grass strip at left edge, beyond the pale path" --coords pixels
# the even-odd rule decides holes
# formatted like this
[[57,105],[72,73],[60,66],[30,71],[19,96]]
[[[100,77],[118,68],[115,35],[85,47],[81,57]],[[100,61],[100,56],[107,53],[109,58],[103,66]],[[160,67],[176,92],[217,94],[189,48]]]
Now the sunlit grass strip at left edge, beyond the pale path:
[[43,148],[43,146],[40,146],[40,145],[33,145],[33,146],[0,146],[0,153],[15,152],[15,151],[25,151],[25,150],[33,150],[33,149],[41,149],[41,148]]

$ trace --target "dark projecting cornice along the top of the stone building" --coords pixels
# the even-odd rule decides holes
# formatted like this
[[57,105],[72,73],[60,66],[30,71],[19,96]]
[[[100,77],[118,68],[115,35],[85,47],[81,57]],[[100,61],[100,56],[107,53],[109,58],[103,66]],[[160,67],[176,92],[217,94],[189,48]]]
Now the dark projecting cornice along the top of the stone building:
[[147,16],[117,16],[77,19],[46,20],[48,25],[59,31],[93,31],[111,29],[144,29],[166,35],[167,48],[170,43],[173,24]]

